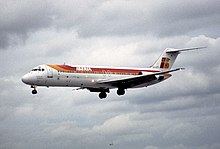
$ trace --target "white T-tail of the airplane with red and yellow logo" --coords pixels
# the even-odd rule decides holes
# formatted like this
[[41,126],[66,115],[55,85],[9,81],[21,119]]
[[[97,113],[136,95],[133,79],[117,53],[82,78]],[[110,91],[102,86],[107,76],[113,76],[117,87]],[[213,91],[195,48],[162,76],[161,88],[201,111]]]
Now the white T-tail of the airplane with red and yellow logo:
[[157,61],[151,66],[151,68],[157,68],[162,71],[170,70],[180,52],[204,49],[206,47],[186,48],[186,49],[173,49],[166,48]]

